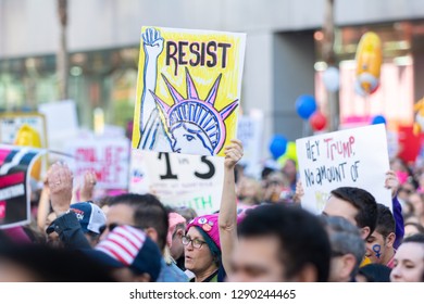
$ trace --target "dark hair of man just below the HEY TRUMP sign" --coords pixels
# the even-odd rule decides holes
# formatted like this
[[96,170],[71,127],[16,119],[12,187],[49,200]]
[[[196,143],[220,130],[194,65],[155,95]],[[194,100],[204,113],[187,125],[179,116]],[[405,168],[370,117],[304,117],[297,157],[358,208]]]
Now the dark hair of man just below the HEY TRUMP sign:
[[356,187],[339,187],[332,191],[332,195],[358,208],[354,220],[359,228],[370,227],[367,237],[374,232],[377,224],[377,202],[370,192]]

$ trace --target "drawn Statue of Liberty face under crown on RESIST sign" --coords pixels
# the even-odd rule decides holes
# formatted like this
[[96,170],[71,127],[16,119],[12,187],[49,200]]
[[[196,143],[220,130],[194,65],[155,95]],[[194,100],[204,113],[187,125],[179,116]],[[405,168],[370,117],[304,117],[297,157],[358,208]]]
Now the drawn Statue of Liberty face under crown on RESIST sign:
[[192,124],[182,124],[172,130],[172,150],[183,154],[212,155],[208,136]]

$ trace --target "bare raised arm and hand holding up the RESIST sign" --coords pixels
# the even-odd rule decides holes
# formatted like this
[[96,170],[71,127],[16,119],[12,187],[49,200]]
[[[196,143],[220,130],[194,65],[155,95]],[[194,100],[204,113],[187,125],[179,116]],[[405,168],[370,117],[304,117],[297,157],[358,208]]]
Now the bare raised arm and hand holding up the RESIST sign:
[[232,143],[225,147],[224,188],[219,217],[222,263],[227,276],[230,276],[229,259],[237,243],[237,197],[234,169],[241,157],[241,141],[233,139]]

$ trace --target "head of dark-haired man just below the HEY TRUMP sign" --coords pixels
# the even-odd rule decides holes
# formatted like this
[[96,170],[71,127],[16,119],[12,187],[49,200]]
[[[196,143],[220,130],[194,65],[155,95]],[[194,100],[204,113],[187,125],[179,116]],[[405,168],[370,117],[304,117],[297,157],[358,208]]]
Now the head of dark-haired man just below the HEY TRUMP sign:
[[377,223],[377,202],[366,190],[339,187],[331,192],[323,214],[345,217],[360,229],[365,240],[373,233]]

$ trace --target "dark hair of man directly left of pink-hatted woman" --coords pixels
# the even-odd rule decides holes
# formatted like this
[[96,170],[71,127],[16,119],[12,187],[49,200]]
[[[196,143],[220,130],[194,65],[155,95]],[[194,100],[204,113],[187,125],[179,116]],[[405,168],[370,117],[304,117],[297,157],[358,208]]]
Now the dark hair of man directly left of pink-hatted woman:
[[158,232],[158,246],[163,251],[169,228],[167,211],[152,194],[121,194],[110,205],[125,204],[134,208],[134,223],[141,229],[154,228]]

